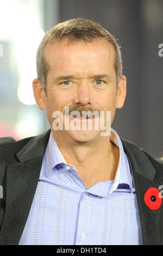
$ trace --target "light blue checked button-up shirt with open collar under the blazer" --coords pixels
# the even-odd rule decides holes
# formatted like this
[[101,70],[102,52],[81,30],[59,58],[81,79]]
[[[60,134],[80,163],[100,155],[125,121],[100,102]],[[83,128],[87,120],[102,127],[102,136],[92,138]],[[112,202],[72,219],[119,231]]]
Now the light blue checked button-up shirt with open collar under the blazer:
[[19,245],[142,245],[142,231],[130,162],[120,137],[115,180],[87,189],[67,164],[52,133]]

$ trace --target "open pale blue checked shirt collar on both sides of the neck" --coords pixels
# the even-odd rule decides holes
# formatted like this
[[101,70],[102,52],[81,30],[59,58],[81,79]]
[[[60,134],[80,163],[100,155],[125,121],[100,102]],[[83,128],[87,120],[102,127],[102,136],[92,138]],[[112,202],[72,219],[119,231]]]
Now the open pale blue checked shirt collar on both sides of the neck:
[[[114,183],[111,186],[109,194],[115,191],[118,188],[118,185],[128,184],[131,191],[134,191],[132,178],[130,173],[130,166],[127,159],[127,156],[124,152],[123,145],[120,137],[117,132],[111,128],[110,141],[114,143],[120,149],[120,158],[118,161],[118,167],[115,175]],[[61,154],[61,151],[58,148],[57,142],[52,136],[52,132],[49,136],[49,141],[46,148],[46,159],[47,159],[47,175],[49,175],[52,169],[57,164],[67,164],[64,156]]]

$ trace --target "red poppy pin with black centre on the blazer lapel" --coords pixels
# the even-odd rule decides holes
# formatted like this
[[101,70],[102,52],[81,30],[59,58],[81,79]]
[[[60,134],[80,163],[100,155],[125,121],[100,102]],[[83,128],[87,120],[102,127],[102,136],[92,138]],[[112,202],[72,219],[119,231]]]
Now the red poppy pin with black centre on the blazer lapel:
[[162,204],[161,193],[158,188],[150,187],[145,193],[145,203],[151,210],[158,210]]

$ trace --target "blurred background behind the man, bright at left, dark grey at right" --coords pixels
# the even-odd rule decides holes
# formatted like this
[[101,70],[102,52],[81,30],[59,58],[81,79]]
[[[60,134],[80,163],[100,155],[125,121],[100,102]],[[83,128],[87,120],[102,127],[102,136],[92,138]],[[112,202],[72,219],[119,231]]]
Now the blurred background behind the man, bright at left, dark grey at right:
[[163,156],[162,0],[0,0],[0,9],[0,137],[18,140],[49,129],[32,90],[37,47],[58,22],[82,17],[121,45],[127,98],[112,128],[153,157]]

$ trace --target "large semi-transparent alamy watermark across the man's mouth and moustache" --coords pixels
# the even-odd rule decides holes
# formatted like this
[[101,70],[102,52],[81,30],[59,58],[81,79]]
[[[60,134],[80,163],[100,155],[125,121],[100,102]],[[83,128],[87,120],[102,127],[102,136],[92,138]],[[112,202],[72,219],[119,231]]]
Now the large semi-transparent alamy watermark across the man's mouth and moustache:
[[[52,117],[55,118],[52,127],[57,130],[78,130],[93,131],[102,130],[101,136],[110,136],[111,132],[111,111],[79,111],[70,112],[69,107],[65,107],[65,118],[61,111],[54,111]],[[71,120],[72,118],[72,120]]]

